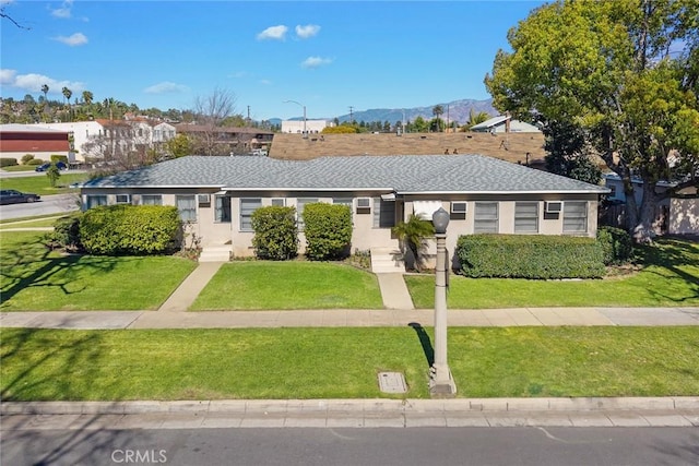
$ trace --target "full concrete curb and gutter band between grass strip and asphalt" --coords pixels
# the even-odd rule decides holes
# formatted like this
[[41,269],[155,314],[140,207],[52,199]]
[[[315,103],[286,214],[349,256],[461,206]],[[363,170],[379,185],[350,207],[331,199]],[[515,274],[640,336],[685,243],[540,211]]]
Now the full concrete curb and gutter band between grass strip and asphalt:
[[2,403],[1,430],[699,427],[699,397]]

